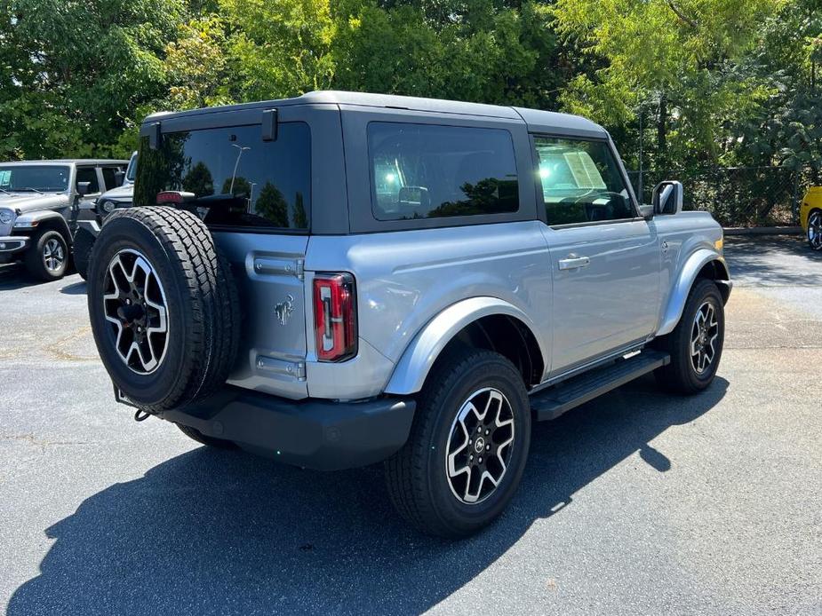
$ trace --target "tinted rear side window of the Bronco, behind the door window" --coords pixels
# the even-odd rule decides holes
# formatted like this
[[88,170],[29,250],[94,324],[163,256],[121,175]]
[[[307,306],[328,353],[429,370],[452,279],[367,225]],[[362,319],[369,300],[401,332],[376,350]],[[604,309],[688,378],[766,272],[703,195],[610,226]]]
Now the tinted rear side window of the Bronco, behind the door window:
[[519,209],[514,140],[507,130],[371,122],[368,152],[378,220]]

